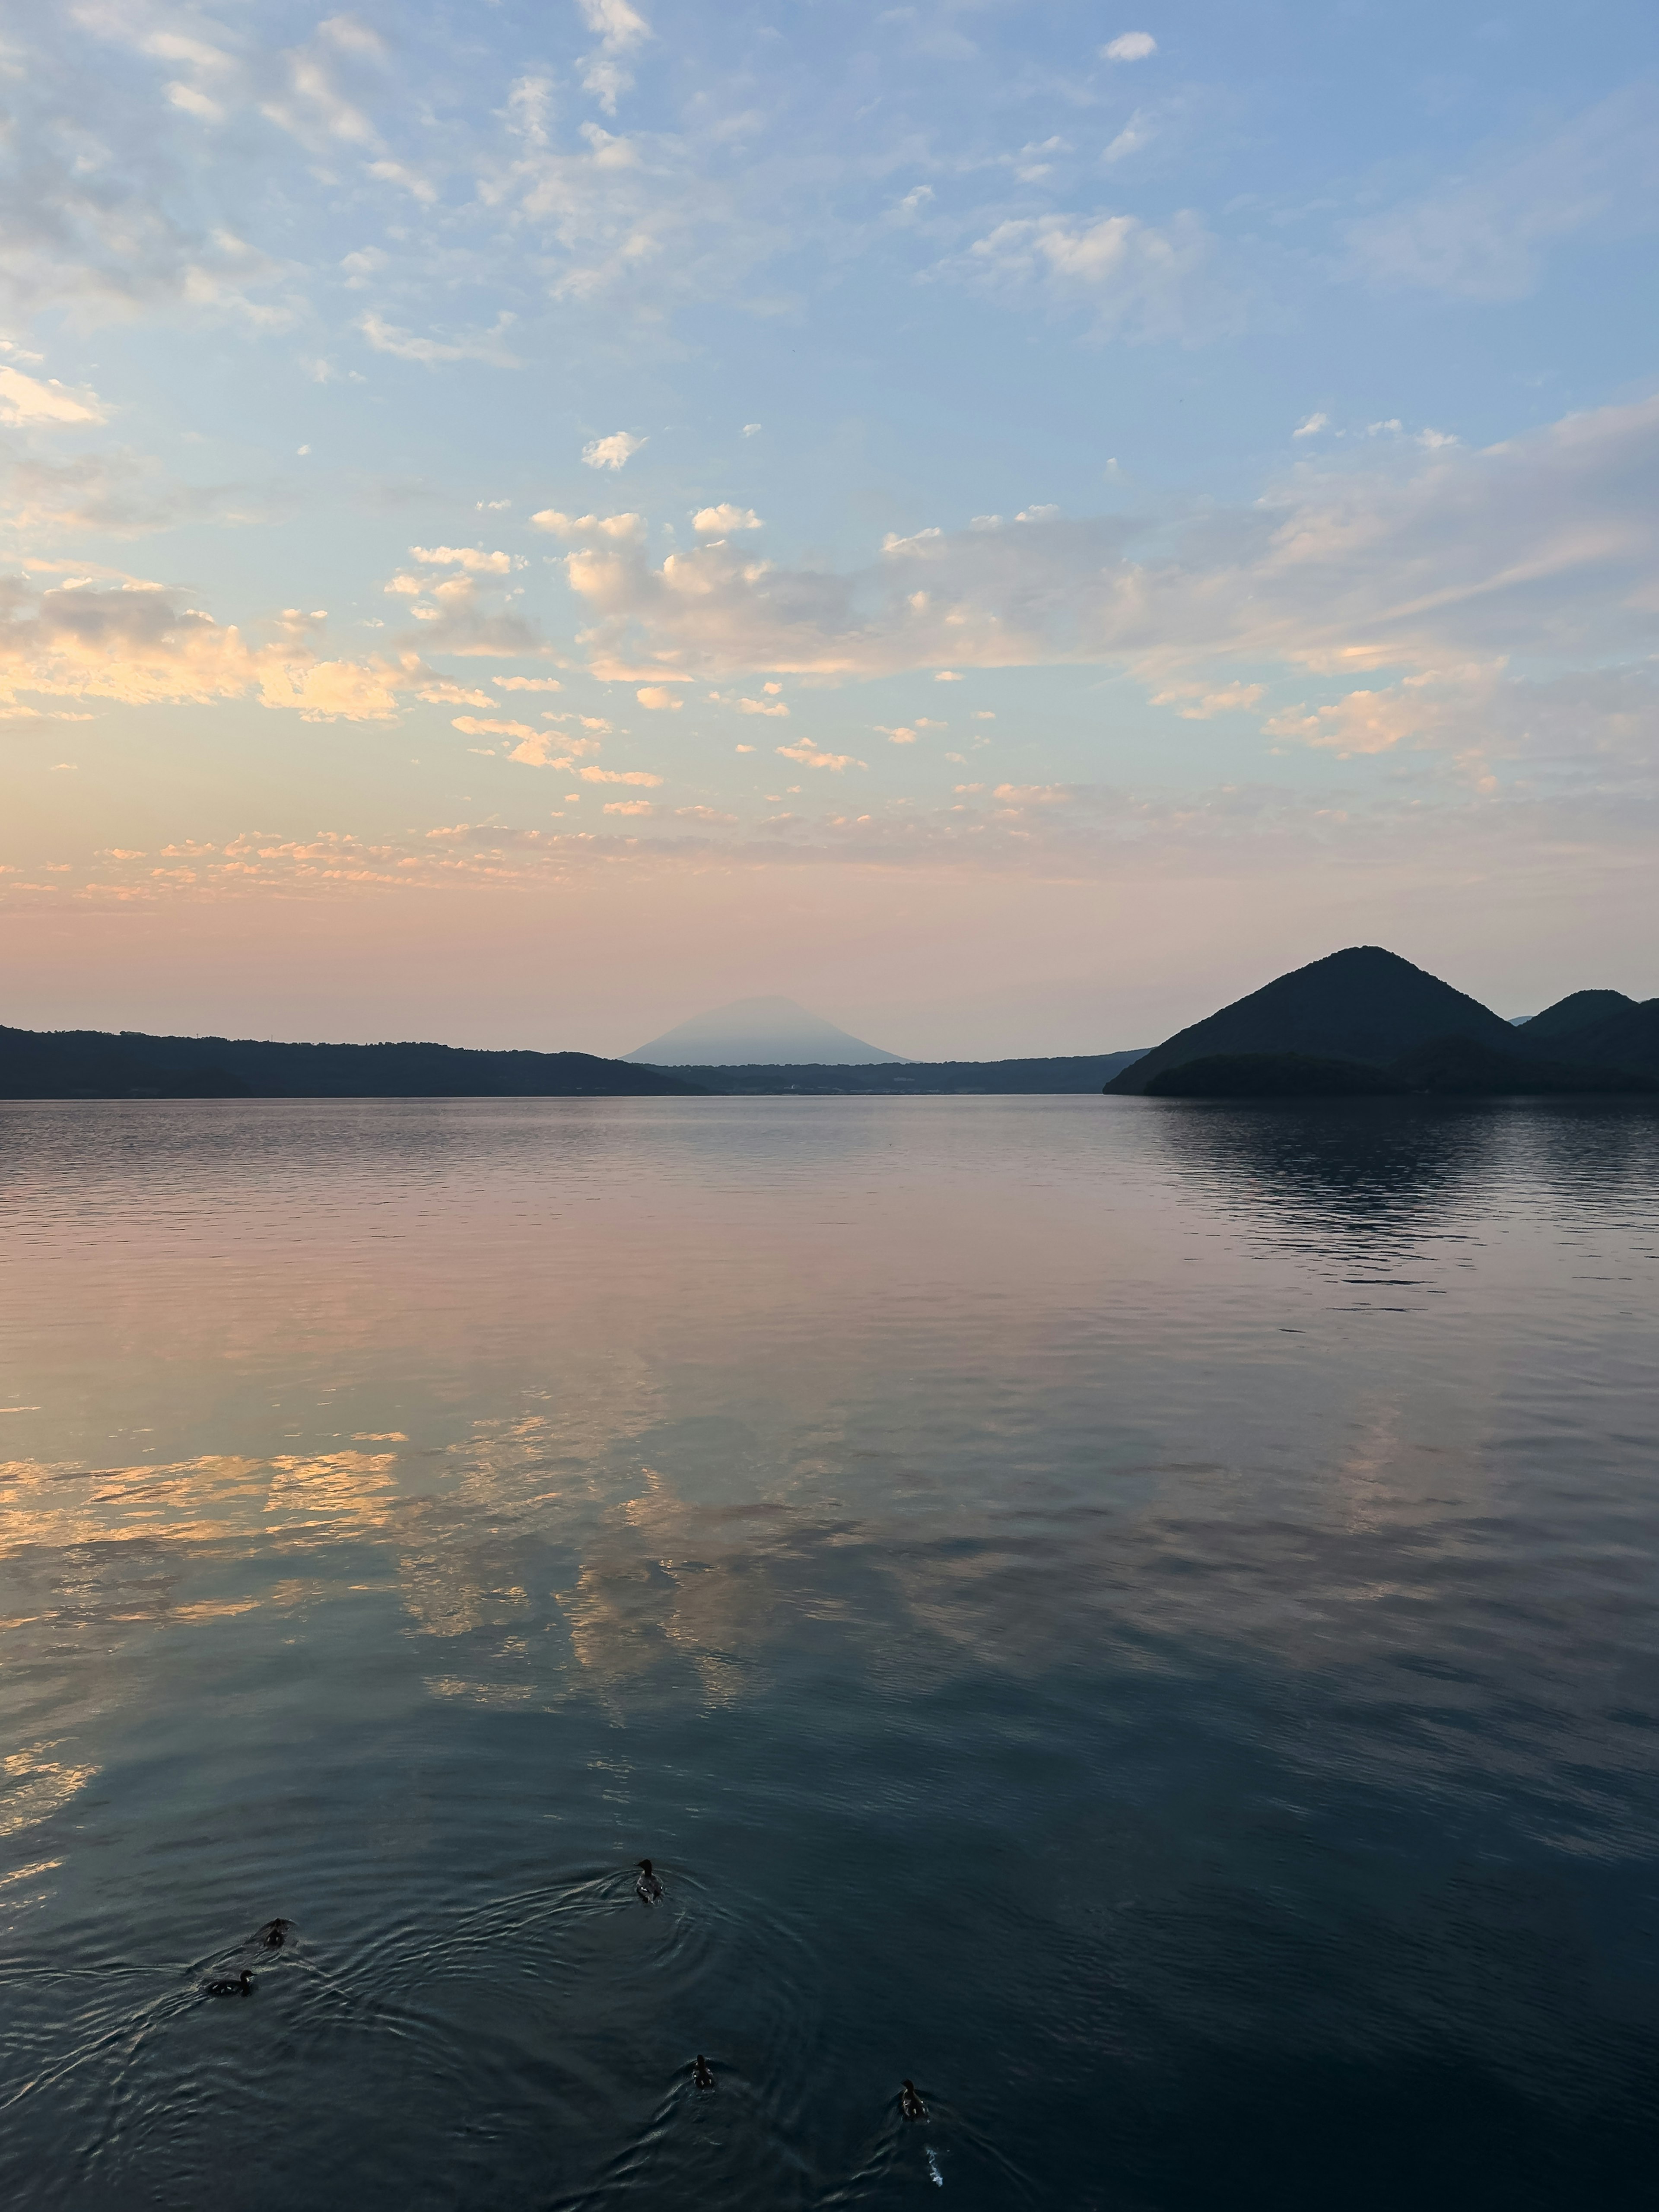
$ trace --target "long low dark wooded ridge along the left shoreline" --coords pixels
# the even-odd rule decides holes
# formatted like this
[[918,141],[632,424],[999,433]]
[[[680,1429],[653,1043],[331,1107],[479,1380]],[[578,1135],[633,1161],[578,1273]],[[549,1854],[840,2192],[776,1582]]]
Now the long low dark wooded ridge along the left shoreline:
[[124,1029],[0,1029],[0,1097],[690,1097],[697,1084],[593,1053],[453,1044],[268,1044]]

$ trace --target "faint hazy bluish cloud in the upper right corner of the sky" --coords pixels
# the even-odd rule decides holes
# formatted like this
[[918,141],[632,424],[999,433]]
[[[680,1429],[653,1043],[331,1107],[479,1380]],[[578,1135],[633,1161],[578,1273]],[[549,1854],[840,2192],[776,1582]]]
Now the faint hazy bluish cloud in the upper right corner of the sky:
[[1347,270],[1482,303],[1526,299],[1551,248],[1659,228],[1659,91],[1632,84],[1542,144],[1493,150],[1455,184],[1347,230]]

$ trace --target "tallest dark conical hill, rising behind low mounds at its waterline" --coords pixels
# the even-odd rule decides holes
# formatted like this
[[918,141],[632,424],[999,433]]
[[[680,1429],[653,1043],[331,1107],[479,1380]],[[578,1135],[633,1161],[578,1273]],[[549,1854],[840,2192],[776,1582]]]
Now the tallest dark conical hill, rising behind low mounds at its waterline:
[[1298,1053],[1389,1066],[1400,1053],[1444,1035],[1467,1035],[1493,1051],[1522,1051],[1520,1031],[1480,1000],[1380,945],[1352,945],[1181,1029],[1108,1088],[1148,1091],[1166,1068],[1234,1053]]

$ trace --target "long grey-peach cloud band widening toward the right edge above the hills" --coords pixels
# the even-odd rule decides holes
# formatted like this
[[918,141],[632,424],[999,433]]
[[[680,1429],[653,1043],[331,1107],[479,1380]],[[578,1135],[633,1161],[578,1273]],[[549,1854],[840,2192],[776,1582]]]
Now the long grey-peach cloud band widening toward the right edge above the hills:
[[730,544],[653,566],[628,544],[571,553],[566,573],[602,677],[1117,661],[1164,688],[1219,655],[1360,675],[1648,650],[1659,398],[1484,451],[1378,442],[1303,462],[1250,507],[1181,529],[1106,515],[940,531],[852,573],[748,562]]

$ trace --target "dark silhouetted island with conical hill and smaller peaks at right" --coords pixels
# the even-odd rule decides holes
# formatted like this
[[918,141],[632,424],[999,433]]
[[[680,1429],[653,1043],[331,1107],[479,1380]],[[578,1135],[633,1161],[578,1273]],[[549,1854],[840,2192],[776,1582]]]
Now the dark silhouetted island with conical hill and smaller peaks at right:
[[1177,1031],[1104,1088],[1152,1097],[1652,1091],[1659,1000],[1575,991],[1515,1024],[1380,945],[1354,945]]

